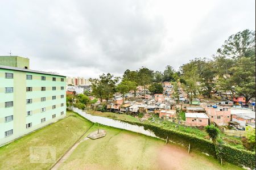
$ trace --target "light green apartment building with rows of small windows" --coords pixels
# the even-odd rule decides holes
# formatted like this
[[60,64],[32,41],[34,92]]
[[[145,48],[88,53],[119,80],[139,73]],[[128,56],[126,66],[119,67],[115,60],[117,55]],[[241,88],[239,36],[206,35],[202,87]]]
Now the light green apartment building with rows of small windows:
[[3,64],[0,56],[0,146],[66,115],[65,76]]

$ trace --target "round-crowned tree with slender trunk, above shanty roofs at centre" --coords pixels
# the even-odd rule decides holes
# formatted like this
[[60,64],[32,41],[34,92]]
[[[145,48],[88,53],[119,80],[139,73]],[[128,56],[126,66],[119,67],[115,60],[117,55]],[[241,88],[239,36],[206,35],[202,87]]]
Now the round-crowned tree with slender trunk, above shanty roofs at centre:
[[150,84],[153,80],[153,71],[147,69],[146,67],[142,67],[138,71],[138,84],[143,86],[144,89],[144,96],[146,96],[146,85]]

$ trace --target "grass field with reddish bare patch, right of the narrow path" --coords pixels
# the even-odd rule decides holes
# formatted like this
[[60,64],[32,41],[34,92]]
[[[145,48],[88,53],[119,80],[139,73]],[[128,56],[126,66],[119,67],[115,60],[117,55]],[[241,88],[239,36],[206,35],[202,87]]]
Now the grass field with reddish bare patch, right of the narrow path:
[[[87,134],[97,130],[94,125]],[[107,135],[80,143],[60,169],[241,169],[199,152],[131,131],[100,126]],[[87,135],[86,134],[86,135]],[[83,137],[85,138],[86,135]]]

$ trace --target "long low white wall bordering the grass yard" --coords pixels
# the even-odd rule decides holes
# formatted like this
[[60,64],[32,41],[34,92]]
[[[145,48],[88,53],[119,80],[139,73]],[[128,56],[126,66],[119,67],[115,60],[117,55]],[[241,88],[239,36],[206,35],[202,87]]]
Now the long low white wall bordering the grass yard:
[[119,121],[119,120],[113,120],[112,118],[93,116],[91,114],[87,114],[87,113],[83,112],[81,109],[78,109],[78,108],[73,108],[73,111],[94,123],[97,122],[98,124],[111,126],[111,127],[119,128],[119,129],[125,129],[125,130],[129,130],[129,131],[134,131],[136,133],[141,133],[141,134],[144,134],[144,135],[147,135],[150,137],[158,138],[158,137],[156,137],[154,132],[152,132],[150,130],[144,130],[143,126],[131,125],[126,122]]

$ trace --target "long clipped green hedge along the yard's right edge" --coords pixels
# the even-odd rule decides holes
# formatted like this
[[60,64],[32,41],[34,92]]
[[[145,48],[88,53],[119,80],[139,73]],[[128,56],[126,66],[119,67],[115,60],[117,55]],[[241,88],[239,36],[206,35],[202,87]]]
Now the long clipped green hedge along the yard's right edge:
[[[123,121],[123,120],[120,120]],[[204,138],[197,137],[193,134],[184,133],[182,131],[177,131],[175,129],[165,129],[160,128],[155,125],[143,124],[141,122],[130,122],[123,121],[129,124],[143,126],[145,130],[150,130],[155,133],[159,138],[170,139],[176,143],[188,146],[191,145],[191,150],[197,150],[200,152],[205,152],[209,155],[216,156],[216,147],[212,141],[209,141]],[[245,167],[255,168],[255,152],[240,150],[229,145],[221,145],[219,158],[225,160],[226,162],[236,164],[239,166],[245,165]]]

